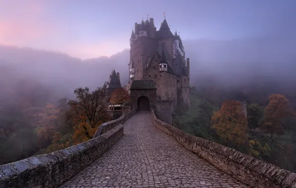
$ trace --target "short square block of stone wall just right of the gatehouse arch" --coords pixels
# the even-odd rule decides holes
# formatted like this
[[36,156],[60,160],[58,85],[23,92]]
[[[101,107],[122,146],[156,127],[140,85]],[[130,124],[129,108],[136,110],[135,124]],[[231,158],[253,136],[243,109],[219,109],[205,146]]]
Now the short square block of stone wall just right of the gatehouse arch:
[[157,100],[157,113],[155,114],[159,120],[168,124],[172,123],[173,102],[173,100]]

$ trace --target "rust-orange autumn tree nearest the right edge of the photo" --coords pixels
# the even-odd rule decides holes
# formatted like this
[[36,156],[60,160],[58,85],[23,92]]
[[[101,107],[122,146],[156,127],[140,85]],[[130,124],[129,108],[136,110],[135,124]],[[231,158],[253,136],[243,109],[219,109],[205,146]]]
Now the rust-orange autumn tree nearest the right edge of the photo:
[[285,134],[282,121],[290,114],[295,114],[295,112],[289,108],[289,100],[282,94],[271,94],[268,100],[269,103],[264,112],[264,124],[261,129],[269,132],[270,138],[273,140],[274,134]]

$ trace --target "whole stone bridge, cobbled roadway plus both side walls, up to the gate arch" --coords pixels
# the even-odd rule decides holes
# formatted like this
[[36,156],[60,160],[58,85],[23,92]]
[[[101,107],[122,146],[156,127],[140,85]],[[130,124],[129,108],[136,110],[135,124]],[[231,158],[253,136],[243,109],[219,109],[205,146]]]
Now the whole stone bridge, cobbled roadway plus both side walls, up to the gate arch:
[[295,173],[161,121],[145,94],[89,141],[1,165],[0,188],[296,188]]

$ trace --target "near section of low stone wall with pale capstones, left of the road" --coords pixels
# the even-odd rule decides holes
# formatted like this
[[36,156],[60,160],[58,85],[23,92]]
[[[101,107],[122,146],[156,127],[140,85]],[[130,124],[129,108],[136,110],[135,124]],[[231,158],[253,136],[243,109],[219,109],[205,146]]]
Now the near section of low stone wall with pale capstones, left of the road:
[[122,136],[123,125],[118,125],[66,149],[1,165],[0,188],[56,188],[99,158]]

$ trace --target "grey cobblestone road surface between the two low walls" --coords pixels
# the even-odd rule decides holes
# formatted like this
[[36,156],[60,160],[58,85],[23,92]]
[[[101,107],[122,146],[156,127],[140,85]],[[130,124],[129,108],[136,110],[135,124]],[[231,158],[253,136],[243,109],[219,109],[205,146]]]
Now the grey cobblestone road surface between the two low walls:
[[124,134],[60,188],[247,188],[155,128],[149,112],[128,119]]

